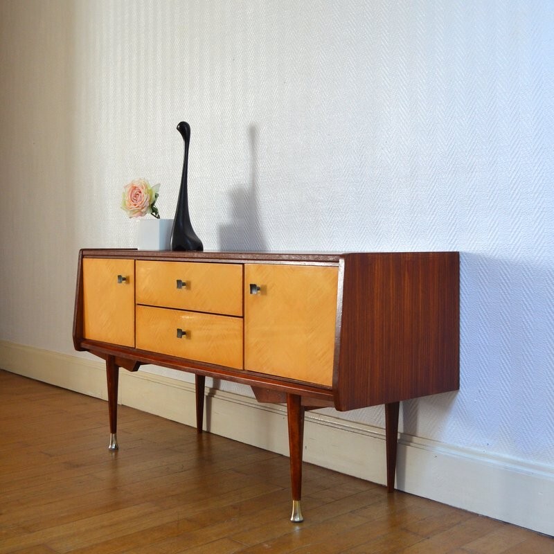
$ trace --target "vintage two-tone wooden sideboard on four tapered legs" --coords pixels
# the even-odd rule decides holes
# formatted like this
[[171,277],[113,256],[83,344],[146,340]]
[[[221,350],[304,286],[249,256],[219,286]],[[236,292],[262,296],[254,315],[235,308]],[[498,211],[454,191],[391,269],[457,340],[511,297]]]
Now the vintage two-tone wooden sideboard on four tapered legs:
[[118,371],[156,364],[287,404],[292,521],[302,521],[305,410],[384,404],[395,483],[401,400],[459,384],[457,252],[240,253],[84,249],[73,341],[105,359],[109,448]]

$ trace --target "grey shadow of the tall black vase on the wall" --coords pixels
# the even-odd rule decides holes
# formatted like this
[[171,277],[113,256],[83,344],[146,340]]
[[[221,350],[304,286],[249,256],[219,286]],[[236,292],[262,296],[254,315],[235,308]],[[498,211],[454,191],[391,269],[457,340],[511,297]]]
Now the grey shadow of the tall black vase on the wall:
[[249,127],[250,176],[244,186],[229,192],[231,222],[222,224],[217,231],[220,250],[266,251],[267,241],[260,220],[258,202],[258,129]]

